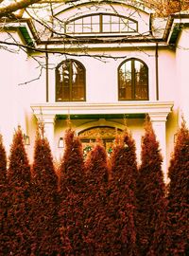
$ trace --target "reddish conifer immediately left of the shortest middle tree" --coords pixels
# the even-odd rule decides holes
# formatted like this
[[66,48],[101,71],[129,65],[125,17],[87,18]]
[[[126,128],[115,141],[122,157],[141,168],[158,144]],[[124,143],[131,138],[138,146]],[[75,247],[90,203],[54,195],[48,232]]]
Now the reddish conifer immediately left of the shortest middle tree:
[[65,132],[60,165],[60,249],[65,255],[85,254],[85,174],[82,146],[75,131]]

